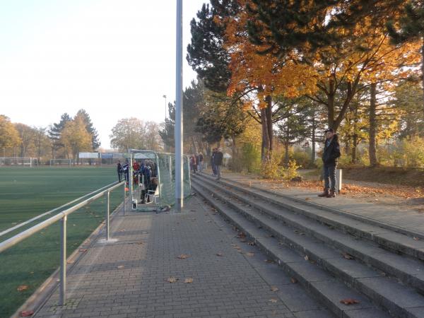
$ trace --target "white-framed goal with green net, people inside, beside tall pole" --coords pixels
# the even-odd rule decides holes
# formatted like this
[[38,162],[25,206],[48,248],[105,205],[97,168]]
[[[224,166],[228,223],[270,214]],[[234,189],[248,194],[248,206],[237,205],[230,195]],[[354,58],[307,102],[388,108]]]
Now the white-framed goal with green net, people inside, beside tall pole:
[[[133,211],[159,211],[175,204],[175,154],[130,149],[129,192]],[[134,161],[149,172],[134,169]],[[189,158],[183,155],[184,198],[191,194]],[[148,175],[148,176],[146,176]],[[147,178],[147,179],[146,179]]]

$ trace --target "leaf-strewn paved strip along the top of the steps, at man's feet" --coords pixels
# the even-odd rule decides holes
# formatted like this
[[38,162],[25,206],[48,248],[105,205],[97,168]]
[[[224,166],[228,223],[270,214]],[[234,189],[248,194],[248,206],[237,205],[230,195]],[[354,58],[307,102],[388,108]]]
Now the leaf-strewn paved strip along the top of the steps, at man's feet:
[[408,208],[384,206],[382,204],[373,204],[370,201],[360,198],[348,198],[346,196],[337,196],[336,198],[319,198],[311,189],[302,189],[300,187],[280,187],[278,182],[264,182],[264,180],[240,175],[237,173],[225,173],[223,178],[230,179],[240,184],[251,184],[254,187],[279,192],[289,196],[295,196],[299,199],[306,199],[314,204],[328,206],[337,210],[353,213],[358,216],[370,218],[381,223],[402,228],[406,231],[416,232],[424,235],[424,213],[413,211]]

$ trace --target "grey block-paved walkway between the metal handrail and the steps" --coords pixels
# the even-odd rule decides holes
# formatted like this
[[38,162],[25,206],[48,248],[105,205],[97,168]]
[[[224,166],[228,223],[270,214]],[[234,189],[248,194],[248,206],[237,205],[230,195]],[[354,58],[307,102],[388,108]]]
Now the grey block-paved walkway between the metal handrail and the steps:
[[196,196],[182,213],[119,213],[111,236],[69,271],[66,305],[56,291],[35,317],[332,317]]

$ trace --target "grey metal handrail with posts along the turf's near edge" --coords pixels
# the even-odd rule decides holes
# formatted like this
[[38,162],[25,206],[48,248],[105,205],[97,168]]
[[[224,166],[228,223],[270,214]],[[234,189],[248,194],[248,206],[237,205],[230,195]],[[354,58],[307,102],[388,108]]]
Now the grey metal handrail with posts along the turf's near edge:
[[[6,249],[9,249],[13,247],[14,245],[18,244],[18,242],[21,242],[22,240],[25,240],[25,238],[30,237],[31,235],[34,235],[37,232],[40,232],[40,230],[47,228],[47,226],[52,225],[53,223],[56,223],[58,220],[61,220],[61,230],[60,230],[60,243],[61,243],[61,250],[60,250],[60,291],[59,291],[59,305],[64,305],[66,302],[66,220],[69,216],[69,214],[77,211],[79,208],[82,208],[83,206],[86,206],[90,202],[99,199],[101,196],[106,196],[106,240],[110,239],[110,218],[109,218],[109,212],[110,212],[110,192],[112,192],[117,187],[122,186],[124,184],[124,203],[123,203],[123,210],[125,211],[125,197],[126,197],[126,184],[125,182],[119,182],[117,184],[114,184],[112,187],[109,187],[105,189],[105,187],[102,187],[100,189],[105,189],[102,192],[99,192],[98,194],[95,194],[94,196],[90,196],[90,198],[76,204],[75,206],[71,206],[71,208],[67,208],[64,211],[61,211],[60,213],[57,213],[57,215],[52,216],[51,218],[48,218],[47,220],[42,221],[41,223],[38,223],[37,225],[34,225],[31,228],[28,228],[27,230],[24,230],[23,232],[18,233],[17,235],[14,235],[13,237],[9,238],[8,240],[5,240],[4,242],[0,243],[0,253],[4,252]],[[98,190],[99,191],[99,190]],[[93,192],[92,192],[93,193]],[[86,195],[87,196],[87,195]],[[81,199],[81,198],[80,198]],[[69,204],[67,204],[69,205]]]

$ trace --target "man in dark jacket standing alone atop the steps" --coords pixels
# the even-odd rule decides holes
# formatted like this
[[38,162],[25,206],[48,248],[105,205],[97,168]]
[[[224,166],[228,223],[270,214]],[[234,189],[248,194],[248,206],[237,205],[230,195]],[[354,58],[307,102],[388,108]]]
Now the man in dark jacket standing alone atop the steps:
[[338,137],[332,128],[325,131],[325,144],[322,153],[324,163],[324,192],[318,196],[334,198],[336,196],[336,167],[337,158],[340,157],[340,145]]

